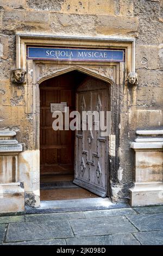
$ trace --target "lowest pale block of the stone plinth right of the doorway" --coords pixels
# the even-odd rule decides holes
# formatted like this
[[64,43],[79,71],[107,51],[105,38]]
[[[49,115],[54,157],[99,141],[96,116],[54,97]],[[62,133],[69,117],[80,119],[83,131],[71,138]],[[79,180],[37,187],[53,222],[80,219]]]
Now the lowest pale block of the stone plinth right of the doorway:
[[163,204],[163,182],[135,182],[129,192],[131,206]]

